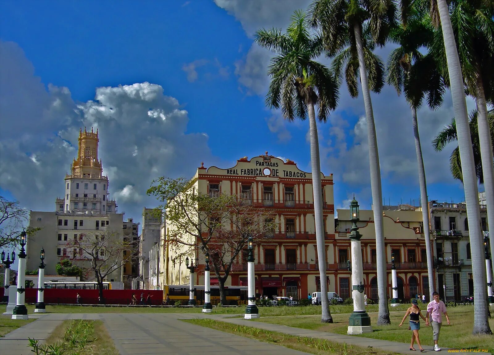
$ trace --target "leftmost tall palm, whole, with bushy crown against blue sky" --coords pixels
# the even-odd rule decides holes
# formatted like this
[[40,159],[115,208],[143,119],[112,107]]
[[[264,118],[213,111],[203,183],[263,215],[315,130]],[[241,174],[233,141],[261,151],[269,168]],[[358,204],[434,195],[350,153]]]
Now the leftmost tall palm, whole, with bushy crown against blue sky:
[[[311,36],[310,25],[302,10],[295,11],[287,33],[281,30],[259,30],[255,41],[261,47],[276,53],[271,59],[268,74],[271,77],[266,105],[282,109],[288,121],[295,117],[305,120],[309,116],[312,186],[314,194],[314,217],[316,241],[321,278],[321,294],[326,295],[326,246],[323,226],[323,204],[321,188],[321,164],[316,126],[315,106],[318,106],[319,121],[326,122],[329,111],[334,110],[338,101],[338,86],[334,75],[314,59],[321,55],[323,48],[319,36]],[[328,297],[322,297],[322,322],[332,323]]]

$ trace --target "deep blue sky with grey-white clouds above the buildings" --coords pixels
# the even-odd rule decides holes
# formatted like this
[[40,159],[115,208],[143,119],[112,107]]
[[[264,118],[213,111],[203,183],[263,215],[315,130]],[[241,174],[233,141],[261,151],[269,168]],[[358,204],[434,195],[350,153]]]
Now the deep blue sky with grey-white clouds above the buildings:
[[[145,195],[152,178],[190,177],[201,161],[228,168],[267,150],[309,171],[308,122],[288,123],[266,108],[270,53],[252,41],[260,27],[285,29],[308,3],[1,0],[0,192],[28,209],[53,210],[81,126],[100,130],[103,168],[125,217],[140,219],[144,206],[157,204]],[[390,48],[377,53],[386,60]],[[385,203],[418,204],[410,109],[389,87],[372,100]],[[166,119],[156,119],[160,113]],[[447,92],[439,110],[418,116],[430,199],[459,202],[453,146],[442,153],[430,146],[452,114]],[[338,109],[319,125],[337,208],[354,192],[371,206],[363,115],[362,98],[351,99],[343,85]]]

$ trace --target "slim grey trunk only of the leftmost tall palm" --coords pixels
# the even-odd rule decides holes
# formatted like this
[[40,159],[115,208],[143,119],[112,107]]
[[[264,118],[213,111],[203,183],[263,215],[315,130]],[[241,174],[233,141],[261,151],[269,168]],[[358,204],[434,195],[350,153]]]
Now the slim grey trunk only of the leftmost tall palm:
[[316,222],[317,257],[319,259],[319,277],[321,280],[321,322],[332,323],[329,312],[328,282],[326,277],[326,242],[324,236],[323,192],[321,187],[321,163],[319,161],[319,139],[317,136],[316,111],[314,103],[307,103],[309,113],[310,160],[312,169],[312,191],[314,194],[314,220]]

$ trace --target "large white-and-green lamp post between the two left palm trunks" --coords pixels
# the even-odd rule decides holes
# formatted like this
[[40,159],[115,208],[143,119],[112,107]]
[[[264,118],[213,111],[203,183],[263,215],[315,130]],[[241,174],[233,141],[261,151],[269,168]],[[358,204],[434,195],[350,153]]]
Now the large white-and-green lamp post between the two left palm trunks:
[[355,200],[350,202],[350,219],[353,223],[352,233],[350,234],[350,244],[352,249],[352,297],[353,313],[348,319],[347,334],[362,334],[372,332],[371,317],[366,312],[364,303],[364,271],[362,267],[362,251],[360,247],[360,238],[357,222],[360,219],[359,203]]

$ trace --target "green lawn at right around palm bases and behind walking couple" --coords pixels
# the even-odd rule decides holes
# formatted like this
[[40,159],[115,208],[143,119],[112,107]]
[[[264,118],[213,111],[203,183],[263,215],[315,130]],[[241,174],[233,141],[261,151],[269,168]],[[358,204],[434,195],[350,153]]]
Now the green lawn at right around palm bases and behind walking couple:
[[[493,310],[491,310],[493,312]],[[408,330],[408,320],[405,320],[403,326],[400,324],[405,312],[392,312],[390,315],[391,325],[375,325],[377,314],[370,313],[372,333],[366,333],[357,336],[365,336],[375,339],[383,339],[396,341],[401,343],[410,343],[412,332]],[[473,307],[458,306],[448,308],[448,315],[452,322],[451,325],[446,324],[444,319],[439,338],[439,345],[453,349],[470,348],[470,349],[488,349],[489,352],[494,351],[494,336],[492,335],[472,335],[473,329]],[[318,331],[327,331],[332,333],[346,334],[348,327],[348,315],[332,314],[334,323],[327,324],[320,322],[320,316],[311,317],[276,317],[276,318],[261,318],[257,321],[283,324],[296,328],[304,328]],[[491,329],[494,330],[494,319],[489,320]],[[422,346],[433,346],[432,327],[425,326],[425,322],[420,322],[420,343]]]

